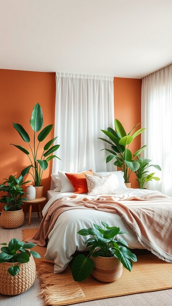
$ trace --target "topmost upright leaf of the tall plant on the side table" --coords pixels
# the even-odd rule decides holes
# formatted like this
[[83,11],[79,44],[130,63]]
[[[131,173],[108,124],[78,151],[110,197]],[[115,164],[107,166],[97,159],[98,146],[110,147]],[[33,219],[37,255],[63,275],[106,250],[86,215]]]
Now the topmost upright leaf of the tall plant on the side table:
[[35,132],[40,131],[43,127],[43,113],[39,103],[36,103],[33,108],[30,125]]

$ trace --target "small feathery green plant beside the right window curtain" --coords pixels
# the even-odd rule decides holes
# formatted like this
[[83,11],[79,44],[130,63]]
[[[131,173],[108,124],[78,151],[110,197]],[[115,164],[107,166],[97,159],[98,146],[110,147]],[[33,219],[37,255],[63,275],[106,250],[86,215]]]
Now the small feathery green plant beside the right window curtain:
[[159,181],[160,180],[159,177],[154,176],[155,172],[148,174],[149,171],[146,171],[146,169],[150,166],[153,166],[159,171],[161,171],[161,167],[159,165],[149,165],[149,163],[151,162],[151,159],[143,158],[140,155],[138,155],[137,162],[139,163],[139,168],[135,171],[135,174],[137,177],[136,181],[138,181],[139,183],[139,188],[144,189],[148,181],[152,181],[152,180]]

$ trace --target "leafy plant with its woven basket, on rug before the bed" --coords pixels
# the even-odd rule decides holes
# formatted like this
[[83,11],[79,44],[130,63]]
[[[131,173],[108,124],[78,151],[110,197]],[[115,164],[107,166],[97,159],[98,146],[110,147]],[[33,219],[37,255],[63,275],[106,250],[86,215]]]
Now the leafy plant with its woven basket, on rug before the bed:
[[[115,236],[126,232],[119,227],[110,227],[101,222],[102,226],[94,224],[95,229],[88,228],[79,230],[78,234],[93,237],[85,241],[90,247],[87,257],[83,254],[76,256],[72,263],[72,275],[75,281],[83,281],[91,273],[92,276],[102,282],[113,282],[122,275],[122,267],[132,269],[132,260],[137,261],[125,240]],[[101,270],[101,271],[100,271]]]

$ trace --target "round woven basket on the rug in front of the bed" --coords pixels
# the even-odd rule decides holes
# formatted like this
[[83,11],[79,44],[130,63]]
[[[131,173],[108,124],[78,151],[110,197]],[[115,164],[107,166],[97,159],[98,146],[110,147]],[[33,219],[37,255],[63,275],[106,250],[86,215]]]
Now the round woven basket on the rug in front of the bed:
[[94,269],[92,276],[101,282],[114,282],[122,275],[122,263],[116,257],[92,257]]

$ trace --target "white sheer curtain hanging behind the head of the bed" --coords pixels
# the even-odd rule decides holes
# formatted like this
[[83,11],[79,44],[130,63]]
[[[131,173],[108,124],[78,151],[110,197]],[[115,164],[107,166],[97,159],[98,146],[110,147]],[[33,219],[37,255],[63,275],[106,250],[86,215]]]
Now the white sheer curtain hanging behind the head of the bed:
[[54,135],[60,144],[52,173],[116,170],[98,137],[114,126],[113,77],[56,73]]

